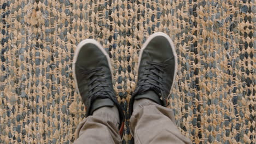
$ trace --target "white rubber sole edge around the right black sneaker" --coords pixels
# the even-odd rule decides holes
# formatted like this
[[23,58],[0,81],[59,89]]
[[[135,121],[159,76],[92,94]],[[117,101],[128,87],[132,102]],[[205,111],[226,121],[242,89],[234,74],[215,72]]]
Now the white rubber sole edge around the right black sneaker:
[[172,87],[173,87],[173,84],[174,84],[175,77],[176,77],[176,75],[177,75],[178,58],[177,58],[177,53],[176,53],[176,50],[175,50],[175,45],[174,45],[173,41],[171,40],[171,38],[170,38],[167,34],[162,33],[162,32],[157,32],[157,33],[154,33],[154,34],[152,34],[152,35],[149,35],[148,39],[147,39],[147,40],[145,41],[145,43],[143,44],[141,51],[139,52],[138,67],[137,67],[136,74],[138,75],[138,68],[139,68],[139,64],[141,64],[141,57],[142,57],[142,53],[143,53],[144,49],[146,49],[146,47],[148,46],[149,42],[150,42],[153,38],[155,38],[155,37],[157,37],[157,36],[163,36],[163,37],[165,37],[165,38],[169,41],[169,43],[170,43],[170,45],[171,45],[171,47],[172,47],[172,52],[173,52],[174,61],[175,61],[175,69],[174,69],[174,75],[173,75],[173,82],[172,82],[172,86],[171,86],[171,89],[170,89],[170,92],[171,92]]

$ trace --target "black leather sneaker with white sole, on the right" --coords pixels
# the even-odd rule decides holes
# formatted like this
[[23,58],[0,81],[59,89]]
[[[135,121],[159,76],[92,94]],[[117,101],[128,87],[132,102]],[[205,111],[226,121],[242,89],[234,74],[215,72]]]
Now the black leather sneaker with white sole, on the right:
[[161,32],[150,35],[139,53],[138,82],[130,99],[130,116],[137,99],[147,98],[162,106],[168,105],[177,65],[177,54],[171,38]]

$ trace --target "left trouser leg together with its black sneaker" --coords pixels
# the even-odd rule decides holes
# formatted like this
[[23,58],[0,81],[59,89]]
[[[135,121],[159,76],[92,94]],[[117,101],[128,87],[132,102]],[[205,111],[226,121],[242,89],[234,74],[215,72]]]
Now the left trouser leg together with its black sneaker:
[[114,92],[111,68],[108,53],[96,40],[86,39],[78,44],[73,76],[85,105],[86,119],[79,124],[75,143],[121,141],[124,113]]

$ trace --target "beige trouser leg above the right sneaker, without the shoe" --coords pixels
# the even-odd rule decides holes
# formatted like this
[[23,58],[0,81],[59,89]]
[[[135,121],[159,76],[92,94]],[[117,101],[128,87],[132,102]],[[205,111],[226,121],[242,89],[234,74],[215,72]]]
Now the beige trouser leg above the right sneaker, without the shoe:
[[177,129],[171,109],[149,99],[136,100],[133,109],[130,130],[136,144],[190,143]]

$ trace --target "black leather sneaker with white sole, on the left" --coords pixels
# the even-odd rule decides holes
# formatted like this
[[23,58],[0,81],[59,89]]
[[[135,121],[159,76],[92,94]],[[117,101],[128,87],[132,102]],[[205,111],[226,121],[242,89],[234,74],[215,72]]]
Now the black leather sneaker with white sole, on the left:
[[117,106],[123,136],[124,114],[112,85],[112,69],[107,52],[93,39],[81,41],[74,53],[73,75],[83,99],[86,116],[103,106]]

